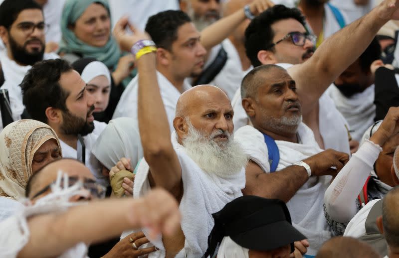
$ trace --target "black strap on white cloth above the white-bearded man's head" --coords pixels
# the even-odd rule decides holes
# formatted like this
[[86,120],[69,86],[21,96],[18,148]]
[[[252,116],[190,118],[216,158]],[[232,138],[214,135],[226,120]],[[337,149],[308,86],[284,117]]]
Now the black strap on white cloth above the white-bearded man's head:
[[223,46],[220,46],[221,47],[219,52],[217,52],[216,58],[206,69],[201,72],[201,74],[194,81],[193,86],[209,84],[216,77],[216,75],[220,73],[221,69],[223,69],[227,62],[227,53]]

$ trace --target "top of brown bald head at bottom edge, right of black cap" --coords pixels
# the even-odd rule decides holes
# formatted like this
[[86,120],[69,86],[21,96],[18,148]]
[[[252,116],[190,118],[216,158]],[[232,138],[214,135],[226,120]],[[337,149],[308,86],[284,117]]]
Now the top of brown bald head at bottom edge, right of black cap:
[[350,237],[336,237],[325,242],[316,258],[376,258],[374,249],[364,242]]

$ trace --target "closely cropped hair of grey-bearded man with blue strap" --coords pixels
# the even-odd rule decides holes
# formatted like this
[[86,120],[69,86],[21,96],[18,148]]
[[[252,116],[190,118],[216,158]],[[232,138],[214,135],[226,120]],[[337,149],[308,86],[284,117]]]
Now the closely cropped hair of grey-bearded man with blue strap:
[[257,100],[257,90],[264,83],[264,78],[259,75],[259,72],[267,72],[271,69],[286,71],[284,68],[274,64],[260,65],[253,68],[241,81],[241,98]]

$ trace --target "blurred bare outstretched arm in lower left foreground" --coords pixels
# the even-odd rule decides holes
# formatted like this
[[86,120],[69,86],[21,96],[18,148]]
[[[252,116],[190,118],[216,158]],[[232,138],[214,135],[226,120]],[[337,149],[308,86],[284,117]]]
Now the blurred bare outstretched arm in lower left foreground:
[[162,189],[141,199],[93,201],[64,213],[29,218],[29,242],[18,257],[57,257],[80,242],[105,241],[134,228],[148,227],[152,236],[171,235],[179,223],[177,201]]

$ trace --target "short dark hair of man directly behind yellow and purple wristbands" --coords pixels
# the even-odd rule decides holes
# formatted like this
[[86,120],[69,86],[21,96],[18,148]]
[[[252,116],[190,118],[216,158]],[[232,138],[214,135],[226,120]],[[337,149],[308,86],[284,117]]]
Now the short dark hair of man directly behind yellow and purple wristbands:
[[187,22],[191,22],[191,18],[184,11],[161,11],[148,18],[146,31],[157,47],[172,51],[172,43],[178,38],[179,27]]

